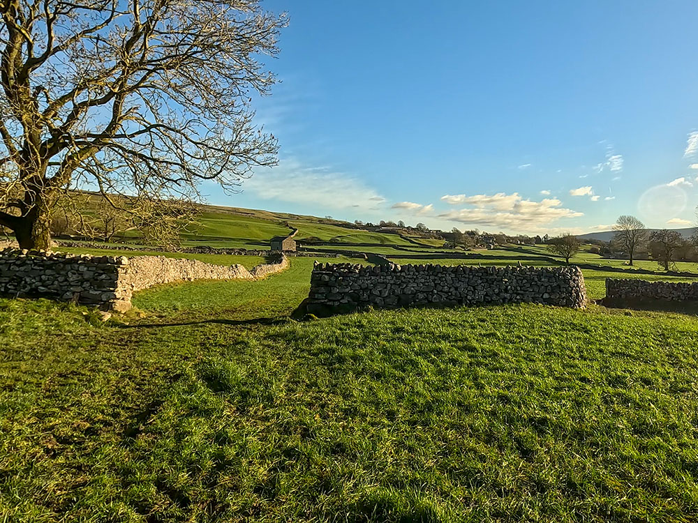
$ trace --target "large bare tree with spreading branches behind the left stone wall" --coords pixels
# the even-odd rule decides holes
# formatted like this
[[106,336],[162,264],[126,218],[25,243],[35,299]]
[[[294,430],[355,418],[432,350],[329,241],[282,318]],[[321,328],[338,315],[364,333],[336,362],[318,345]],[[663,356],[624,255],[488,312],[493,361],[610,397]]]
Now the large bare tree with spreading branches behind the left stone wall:
[[0,14],[0,225],[23,248],[47,248],[70,188],[165,206],[137,217],[149,226],[202,180],[234,191],[274,165],[251,103],[275,82],[259,57],[285,16],[260,0],[0,0]]

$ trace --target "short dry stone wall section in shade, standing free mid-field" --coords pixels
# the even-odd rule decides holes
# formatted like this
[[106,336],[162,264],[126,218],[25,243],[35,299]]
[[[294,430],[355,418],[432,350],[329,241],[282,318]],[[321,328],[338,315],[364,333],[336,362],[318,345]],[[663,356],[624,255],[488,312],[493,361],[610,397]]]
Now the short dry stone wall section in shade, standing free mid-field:
[[469,267],[440,265],[315,264],[306,310],[331,312],[369,305],[477,305],[544,303],[586,305],[577,267]]

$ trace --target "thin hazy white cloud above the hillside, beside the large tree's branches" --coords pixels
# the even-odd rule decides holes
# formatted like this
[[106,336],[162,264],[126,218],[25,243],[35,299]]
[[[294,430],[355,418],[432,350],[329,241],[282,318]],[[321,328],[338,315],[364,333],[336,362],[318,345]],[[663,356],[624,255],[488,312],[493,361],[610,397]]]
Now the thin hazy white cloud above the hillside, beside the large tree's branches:
[[244,190],[263,199],[307,204],[311,209],[375,210],[385,198],[359,179],[329,167],[309,167],[295,158],[283,158],[279,165],[259,169],[244,181]]

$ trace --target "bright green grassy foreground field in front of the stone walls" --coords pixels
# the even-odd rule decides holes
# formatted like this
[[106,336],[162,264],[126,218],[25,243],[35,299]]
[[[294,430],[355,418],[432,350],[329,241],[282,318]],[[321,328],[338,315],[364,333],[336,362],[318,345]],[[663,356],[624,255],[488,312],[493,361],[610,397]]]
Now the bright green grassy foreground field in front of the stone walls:
[[0,339],[0,521],[698,518],[690,317],[100,324],[1,300]]

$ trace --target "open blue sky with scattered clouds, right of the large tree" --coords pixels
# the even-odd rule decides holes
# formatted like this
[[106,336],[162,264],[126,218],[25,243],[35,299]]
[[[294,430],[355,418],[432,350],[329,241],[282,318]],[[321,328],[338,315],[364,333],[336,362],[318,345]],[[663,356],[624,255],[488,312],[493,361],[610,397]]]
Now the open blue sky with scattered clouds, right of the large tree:
[[698,2],[267,0],[279,166],[230,206],[552,234],[693,225]]

